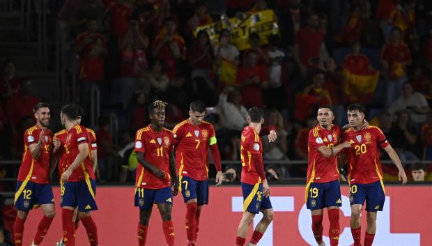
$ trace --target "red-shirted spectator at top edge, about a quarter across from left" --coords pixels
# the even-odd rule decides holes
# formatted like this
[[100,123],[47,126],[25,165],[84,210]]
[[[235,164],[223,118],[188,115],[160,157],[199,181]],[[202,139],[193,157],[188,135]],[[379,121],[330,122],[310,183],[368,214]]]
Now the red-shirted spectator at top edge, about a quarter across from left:
[[132,8],[128,6],[125,0],[116,0],[108,6],[107,13],[111,17],[111,35],[123,38],[128,33],[128,20],[132,15]]

